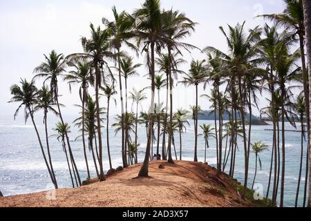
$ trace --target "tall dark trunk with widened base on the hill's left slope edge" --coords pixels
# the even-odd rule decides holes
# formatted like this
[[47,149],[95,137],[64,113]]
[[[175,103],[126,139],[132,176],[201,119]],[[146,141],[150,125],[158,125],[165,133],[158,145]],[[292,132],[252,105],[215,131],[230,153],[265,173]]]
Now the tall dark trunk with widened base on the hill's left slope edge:
[[95,67],[96,72],[96,83],[95,83],[95,99],[96,99],[96,117],[97,117],[97,134],[98,134],[98,147],[100,148],[100,181],[104,181],[106,179],[104,175],[104,168],[102,164],[102,126],[100,123],[100,69],[98,64]]

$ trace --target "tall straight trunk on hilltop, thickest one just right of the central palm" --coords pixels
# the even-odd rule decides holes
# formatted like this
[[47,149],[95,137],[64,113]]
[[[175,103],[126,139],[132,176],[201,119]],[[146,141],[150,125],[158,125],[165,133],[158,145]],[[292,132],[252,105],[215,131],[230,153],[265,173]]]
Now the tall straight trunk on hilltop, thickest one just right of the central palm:
[[173,77],[171,76],[171,48],[169,47],[169,160],[168,162],[173,164],[173,158],[171,157],[171,143],[173,141]]

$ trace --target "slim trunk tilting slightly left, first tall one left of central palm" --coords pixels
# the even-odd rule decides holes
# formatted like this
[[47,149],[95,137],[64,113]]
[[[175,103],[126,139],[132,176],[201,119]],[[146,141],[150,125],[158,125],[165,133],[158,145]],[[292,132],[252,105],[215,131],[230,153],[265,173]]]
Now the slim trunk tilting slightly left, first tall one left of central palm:
[[124,101],[123,101],[123,90],[122,90],[122,75],[121,75],[121,60],[120,60],[120,48],[117,49],[117,63],[119,66],[119,86],[120,86],[120,102],[121,102],[121,127],[122,127],[122,162],[123,167],[129,166],[126,161],[125,151],[125,133],[124,133]]

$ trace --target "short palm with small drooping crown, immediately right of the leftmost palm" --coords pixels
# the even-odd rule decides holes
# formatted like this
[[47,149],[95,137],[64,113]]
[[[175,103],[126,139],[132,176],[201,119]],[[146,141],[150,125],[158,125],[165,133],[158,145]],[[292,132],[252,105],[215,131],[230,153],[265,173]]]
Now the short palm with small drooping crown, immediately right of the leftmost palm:
[[41,90],[39,90],[38,92],[34,111],[39,111],[39,110],[44,111],[44,126],[45,126],[45,131],[46,131],[46,147],[48,150],[48,160],[50,162],[50,170],[55,180],[55,188],[57,189],[58,188],[57,180],[56,180],[55,172],[53,169],[52,157],[50,155],[50,144],[48,142],[48,112],[50,111],[54,113],[55,115],[58,115],[57,111],[55,110],[53,106],[57,106],[57,104],[55,103],[52,97],[52,94],[50,93],[48,88],[43,86]]

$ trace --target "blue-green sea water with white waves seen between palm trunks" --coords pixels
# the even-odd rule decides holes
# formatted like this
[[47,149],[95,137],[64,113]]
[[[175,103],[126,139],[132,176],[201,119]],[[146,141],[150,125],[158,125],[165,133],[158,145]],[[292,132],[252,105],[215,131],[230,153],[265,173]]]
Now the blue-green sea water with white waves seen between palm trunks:
[[[74,117],[65,117],[66,122],[73,122]],[[56,119],[50,119],[49,128],[53,128]],[[193,122],[190,121],[191,126],[187,128],[187,133],[182,134],[183,142],[183,160],[194,160],[194,127]],[[37,120],[38,128],[41,133],[41,139],[44,141],[44,126],[42,120]],[[214,122],[200,121],[199,124],[214,124]],[[294,130],[290,124],[286,125],[288,130]],[[297,125],[300,128],[300,125]],[[252,142],[263,141],[270,145],[270,150],[261,154],[262,170],[258,171],[256,178],[256,186],[263,188],[263,194],[267,189],[267,182],[270,172],[270,159],[272,149],[272,131],[265,131],[265,129],[272,129],[272,126],[252,126]],[[84,162],[82,140],[75,140],[78,136],[77,128],[71,128],[70,140],[73,148],[73,154],[77,162],[79,173],[83,180],[86,178],[86,165]],[[121,158],[121,137],[115,136],[114,128],[109,127],[111,156],[113,159],[113,167],[122,166]],[[50,135],[53,131],[49,130]],[[144,159],[144,151],[146,148],[146,128],[140,125],[138,129],[140,153],[139,161]],[[179,156],[179,135],[176,134],[176,151]],[[104,132],[104,144],[106,144],[106,132]],[[208,154],[208,162],[211,165],[216,164],[216,144],[215,140],[211,139]],[[241,140],[239,141],[239,151],[236,158],[236,179],[243,182],[244,177],[244,153]],[[162,142],[160,142],[162,143]],[[156,151],[156,144],[153,145]],[[199,161],[204,161],[204,146],[205,141],[203,137],[198,139],[198,157]],[[224,144],[225,146],[225,144]],[[286,169],[285,169],[285,205],[294,206],[294,199],[296,195],[296,186],[299,175],[299,160],[301,151],[301,134],[288,132],[286,133]],[[57,176],[57,181],[60,188],[70,187],[70,175],[68,173],[66,157],[62,151],[62,145],[57,142],[55,137],[50,138],[50,148],[52,151],[53,165]],[[224,150],[225,151],[225,150]],[[304,148],[304,151],[306,149]],[[175,156],[175,154],[173,154]],[[305,156],[305,153],[304,153]],[[174,157],[175,158],[175,157]],[[88,153],[89,166],[91,173],[95,177],[95,167],[91,153]],[[254,177],[254,154],[251,154],[249,167],[249,186],[252,185]],[[106,145],[104,145],[104,168],[109,169],[108,157],[106,153]],[[300,205],[303,199],[303,186],[305,183],[305,158],[303,160],[303,179],[301,180],[301,195]],[[272,175],[273,178],[273,175]],[[37,191],[44,191],[53,189],[50,182],[50,177],[46,170],[43,157],[37,142],[34,128],[30,123],[24,124],[22,119],[14,121],[12,117],[0,117],[0,190],[3,195],[17,195],[23,193],[32,193]]]

